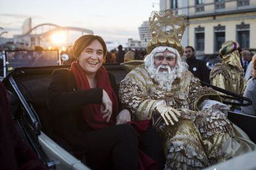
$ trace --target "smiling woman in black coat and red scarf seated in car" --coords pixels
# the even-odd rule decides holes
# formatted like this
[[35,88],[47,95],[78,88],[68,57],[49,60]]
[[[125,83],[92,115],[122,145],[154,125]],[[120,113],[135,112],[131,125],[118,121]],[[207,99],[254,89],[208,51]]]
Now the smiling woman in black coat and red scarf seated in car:
[[[119,113],[114,76],[102,66],[107,53],[104,40],[81,36],[73,53],[77,62],[70,70],[54,70],[48,89],[54,135],[69,143],[77,158],[85,155],[92,169],[137,169],[137,134],[131,125],[124,124],[130,121],[130,113],[127,109]],[[163,168],[156,132],[144,132],[140,145]]]

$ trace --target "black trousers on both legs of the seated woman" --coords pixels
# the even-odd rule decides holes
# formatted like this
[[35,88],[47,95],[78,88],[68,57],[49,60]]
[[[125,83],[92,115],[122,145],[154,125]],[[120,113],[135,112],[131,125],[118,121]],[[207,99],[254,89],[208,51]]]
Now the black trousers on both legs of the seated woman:
[[138,169],[139,147],[164,168],[164,153],[155,129],[144,132],[138,143],[134,128],[129,124],[114,125],[89,132],[87,138],[86,164],[92,169]]

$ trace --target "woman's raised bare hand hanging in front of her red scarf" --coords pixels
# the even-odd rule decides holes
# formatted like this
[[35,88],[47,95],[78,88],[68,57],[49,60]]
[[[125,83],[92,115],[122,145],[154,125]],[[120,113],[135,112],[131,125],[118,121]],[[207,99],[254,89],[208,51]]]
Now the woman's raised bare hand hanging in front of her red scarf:
[[102,95],[102,104],[101,104],[101,113],[103,113],[103,118],[107,117],[106,122],[109,122],[109,119],[112,114],[112,101],[110,100],[108,93],[103,90]]

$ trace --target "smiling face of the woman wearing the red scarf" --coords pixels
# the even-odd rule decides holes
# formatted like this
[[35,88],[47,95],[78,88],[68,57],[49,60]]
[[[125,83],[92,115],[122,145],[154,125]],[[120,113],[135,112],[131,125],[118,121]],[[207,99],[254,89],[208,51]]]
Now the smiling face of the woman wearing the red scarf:
[[103,47],[98,40],[93,40],[92,43],[83,49],[79,56],[79,65],[85,70],[88,75],[96,74],[103,64]]

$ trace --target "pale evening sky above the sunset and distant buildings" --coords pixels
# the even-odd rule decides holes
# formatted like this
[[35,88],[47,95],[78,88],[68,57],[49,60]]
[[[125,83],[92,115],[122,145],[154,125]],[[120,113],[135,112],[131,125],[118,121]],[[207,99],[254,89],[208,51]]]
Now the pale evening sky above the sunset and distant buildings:
[[105,41],[125,44],[139,40],[139,29],[159,0],[0,0],[0,27],[12,37],[22,33],[22,23],[32,17],[32,27],[54,23],[62,27],[93,30]]

